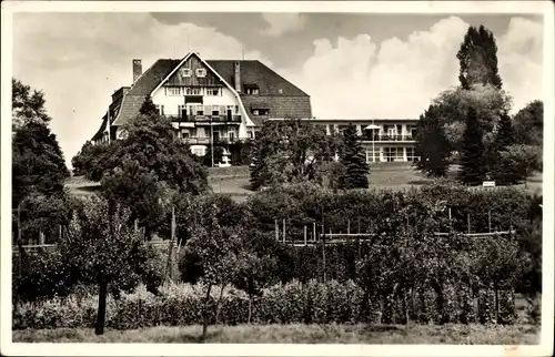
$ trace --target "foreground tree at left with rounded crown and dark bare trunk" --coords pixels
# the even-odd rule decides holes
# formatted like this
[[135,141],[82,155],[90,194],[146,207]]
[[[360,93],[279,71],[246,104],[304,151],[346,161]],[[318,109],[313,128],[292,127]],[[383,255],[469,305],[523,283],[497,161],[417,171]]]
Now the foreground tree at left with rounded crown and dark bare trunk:
[[104,333],[107,295],[110,284],[124,276],[142,274],[152,251],[133,233],[130,212],[110,207],[93,196],[74,215],[59,245],[68,268],[82,272],[83,278],[99,287],[99,309],[94,333]]

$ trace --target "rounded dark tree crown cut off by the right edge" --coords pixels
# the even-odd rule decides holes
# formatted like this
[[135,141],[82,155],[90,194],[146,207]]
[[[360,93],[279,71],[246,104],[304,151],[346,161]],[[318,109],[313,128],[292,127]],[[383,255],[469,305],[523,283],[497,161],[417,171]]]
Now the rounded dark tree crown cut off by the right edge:
[[517,143],[543,149],[544,103],[532,101],[514,116]]

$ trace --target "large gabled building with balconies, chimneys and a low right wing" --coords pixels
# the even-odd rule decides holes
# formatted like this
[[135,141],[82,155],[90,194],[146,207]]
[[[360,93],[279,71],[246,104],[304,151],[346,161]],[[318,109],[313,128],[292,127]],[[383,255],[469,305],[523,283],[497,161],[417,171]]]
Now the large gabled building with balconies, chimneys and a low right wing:
[[254,137],[266,120],[285,118],[324,125],[329,134],[355,124],[367,162],[415,160],[416,119],[315,119],[309,94],[260,61],[203,60],[191,52],[158,60],[144,72],[141,60],[133,60],[132,72],[132,84],[112,94],[93,142],[121,139],[122,126],[150,95],[194,154],[204,155],[211,144],[226,147],[220,165],[230,164],[232,143]]

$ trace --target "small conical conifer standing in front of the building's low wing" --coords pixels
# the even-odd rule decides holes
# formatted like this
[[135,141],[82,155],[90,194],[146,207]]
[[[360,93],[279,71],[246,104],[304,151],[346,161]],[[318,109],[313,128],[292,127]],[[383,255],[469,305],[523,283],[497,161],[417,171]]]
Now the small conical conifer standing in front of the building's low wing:
[[343,153],[341,163],[345,166],[344,188],[367,188],[369,165],[361,145],[356,128],[350,124],[343,131]]

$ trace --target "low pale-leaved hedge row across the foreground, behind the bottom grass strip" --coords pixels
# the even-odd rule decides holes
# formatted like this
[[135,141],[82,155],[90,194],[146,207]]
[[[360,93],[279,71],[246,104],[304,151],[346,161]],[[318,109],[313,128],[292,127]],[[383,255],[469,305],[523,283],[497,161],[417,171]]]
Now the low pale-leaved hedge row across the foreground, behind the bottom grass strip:
[[[214,306],[219,289],[213,289],[210,299],[210,323],[214,324]],[[144,287],[132,294],[123,294],[120,299],[108,300],[107,326],[114,329],[141,327],[184,326],[202,324],[203,290],[201,286],[180,284],[160,288],[159,295],[148,293]],[[491,292],[480,297],[480,313],[476,318],[467,305],[457,300],[464,294],[445,295],[444,308],[437,306],[437,297],[431,290],[415,292],[408,304],[408,315],[420,323],[490,323],[494,313],[491,309]],[[513,323],[515,319],[514,300],[511,294],[501,294],[501,319]],[[325,284],[311,280],[305,284],[293,282],[276,285],[264,290],[262,297],[252,305],[253,324],[355,324],[355,323],[405,323],[402,298],[390,297],[385,300],[370,300],[356,284],[341,284],[329,280]],[[508,297],[508,298],[507,298]],[[413,309],[414,306],[414,309]],[[53,298],[44,303],[18,304],[13,308],[13,329],[24,328],[91,328],[97,316],[95,296]],[[443,312],[443,315],[440,314]],[[474,314],[474,315],[473,315]],[[249,316],[248,296],[235,289],[223,295],[220,324],[245,324]]]

